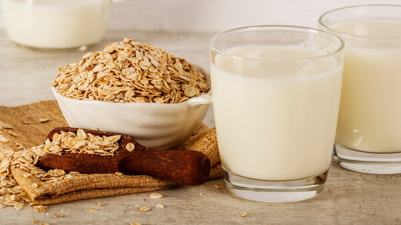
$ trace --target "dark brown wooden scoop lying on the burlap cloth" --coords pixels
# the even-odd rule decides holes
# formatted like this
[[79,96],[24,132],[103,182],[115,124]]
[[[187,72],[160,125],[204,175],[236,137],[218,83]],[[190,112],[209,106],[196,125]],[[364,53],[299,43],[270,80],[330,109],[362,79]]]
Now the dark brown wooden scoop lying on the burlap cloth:
[[[52,140],[54,133],[77,133],[78,128],[56,127],[47,138]],[[98,136],[119,135],[98,130],[83,129],[86,133]],[[140,145],[132,136],[121,135],[120,146],[113,156],[64,153],[39,157],[37,166],[76,171],[82,174],[105,174],[121,172],[124,174],[145,174],[185,185],[200,185],[207,181],[210,173],[210,160],[200,152],[191,150],[157,150]],[[135,148],[129,152],[125,146],[133,143]]]

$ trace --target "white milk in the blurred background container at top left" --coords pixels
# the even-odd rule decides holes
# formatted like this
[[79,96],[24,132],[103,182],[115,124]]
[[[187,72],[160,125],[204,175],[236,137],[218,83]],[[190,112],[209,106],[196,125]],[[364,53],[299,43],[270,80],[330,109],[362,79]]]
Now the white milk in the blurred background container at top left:
[[3,0],[7,34],[35,48],[75,48],[99,42],[106,29],[109,1]]

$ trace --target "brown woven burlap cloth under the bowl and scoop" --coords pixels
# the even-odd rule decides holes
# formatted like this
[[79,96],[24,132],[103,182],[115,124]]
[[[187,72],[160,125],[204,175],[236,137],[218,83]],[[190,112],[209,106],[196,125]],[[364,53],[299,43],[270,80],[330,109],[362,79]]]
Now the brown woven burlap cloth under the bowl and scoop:
[[[42,120],[41,120],[42,119]],[[45,121],[48,119],[48,121]],[[42,122],[41,122],[42,121]],[[47,133],[56,126],[68,126],[56,101],[43,101],[17,107],[0,106],[0,122],[13,126],[13,136],[3,130],[9,142],[0,141],[0,160],[7,149],[16,150],[19,143],[25,148],[43,144]],[[201,124],[197,132],[180,149],[193,149],[205,153],[211,161],[209,179],[223,176],[218,156],[214,129]],[[92,174],[80,175],[57,182],[41,182],[25,177],[26,171],[15,168],[11,175],[28,193],[31,204],[55,204],[80,199],[115,196],[171,188],[179,184],[147,175]],[[39,184],[32,188],[32,184]]]

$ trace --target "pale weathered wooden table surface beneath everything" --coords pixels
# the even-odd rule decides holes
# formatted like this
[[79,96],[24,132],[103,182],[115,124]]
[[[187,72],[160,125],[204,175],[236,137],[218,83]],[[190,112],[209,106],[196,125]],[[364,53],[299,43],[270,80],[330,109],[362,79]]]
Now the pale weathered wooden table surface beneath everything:
[[[50,83],[58,67],[78,61],[124,37],[160,46],[169,53],[209,68],[208,41],[213,33],[108,31],[104,40],[85,51],[35,51],[13,44],[0,30],[0,105],[16,106],[54,99]],[[212,108],[205,124],[213,127]],[[224,188],[222,178],[200,186],[178,186],[157,193],[98,198],[49,205],[46,213],[0,209],[0,224],[401,224],[401,175],[362,174],[332,163],[326,187],[318,196],[293,203],[262,203],[240,199]],[[98,207],[97,202],[104,202]],[[156,208],[162,203],[165,208]],[[147,206],[151,210],[139,212]],[[96,208],[96,211],[90,211]],[[246,212],[245,217],[240,214]],[[58,215],[53,218],[52,215]],[[60,218],[64,214],[65,217]]]

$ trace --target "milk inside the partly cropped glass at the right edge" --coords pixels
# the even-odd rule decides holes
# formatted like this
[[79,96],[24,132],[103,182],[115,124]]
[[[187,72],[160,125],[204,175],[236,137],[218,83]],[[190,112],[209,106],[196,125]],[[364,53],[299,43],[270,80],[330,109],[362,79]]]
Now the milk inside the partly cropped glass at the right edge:
[[[375,42],[344,40],[336,143],[364,152],[401,152],[401,20],[359,20],[332,28],[376,37]],[[387,37],[398,41],[377,44]]]

